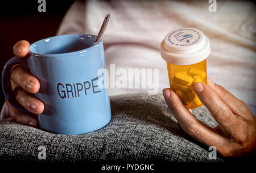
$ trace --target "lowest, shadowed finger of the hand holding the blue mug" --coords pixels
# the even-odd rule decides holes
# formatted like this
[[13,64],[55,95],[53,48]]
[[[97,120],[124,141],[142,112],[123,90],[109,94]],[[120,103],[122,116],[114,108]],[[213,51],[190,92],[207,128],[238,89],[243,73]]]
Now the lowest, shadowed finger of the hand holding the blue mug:
[[24,124],[24,125],[30,125],[34,127],[38,127],[38,119],[35,115],[28,115],[24,114],[22,112],[19,112],[17,109],[15,109],[11,104],[9,104],[6,100],[6,104],[9,107],[9,114],[11,116],[11,119],[13,119],[16,123]]

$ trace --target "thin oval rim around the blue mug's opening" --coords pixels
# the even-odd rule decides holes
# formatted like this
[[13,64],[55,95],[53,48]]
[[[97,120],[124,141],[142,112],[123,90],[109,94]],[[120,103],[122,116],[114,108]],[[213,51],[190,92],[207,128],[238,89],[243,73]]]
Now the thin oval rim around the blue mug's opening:
[[92,47],[81,49],[81,50],[76,50],[76,51],[73,51],[73,52],[66,52],[66,53],[35,53],[35,52],[31,51],[32,45],[36,45],[37,43],[39,43],[39,41],[44,41],[44,40],[47,40],[47,39],[52,39],[53,37],[62,37],[62,36],[87,36],[87,37],[88,36],[93,36],[95,38],[97,37],[96,35],[86,34],[86,33],[73,33],[73,34],[67,34],[67,35],[58,35],[58,36],[47,37],[45,39],[41,39],[41,40],[38,40],[38,41],[32,43],[30,45],[29,53],[34,54],[35,56],[39,55],[39,56],[46,56],[46,57],[47,56],[63,56],[63,55],[80,54],[80,53],[84,53],[84,52],[89,52],[93,48],[97,47],[99,44],[102,43],[102,39],[100,39],[98,42],[94,43],[94,45]]

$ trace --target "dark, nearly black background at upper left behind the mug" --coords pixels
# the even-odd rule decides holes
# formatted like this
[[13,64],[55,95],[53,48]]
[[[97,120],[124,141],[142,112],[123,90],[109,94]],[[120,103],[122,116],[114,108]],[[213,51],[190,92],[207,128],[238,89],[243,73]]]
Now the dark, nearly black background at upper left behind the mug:
[[[46,12],[39,12],[38,0],[0,2],[0,69],[13,54],[13,45],[19,40],[34,43],[55,36],[65,12],[75,0],[46,0]],[[2,74],[2,73],[1,73]],[[5,102],[2,86],[0,109]]]

